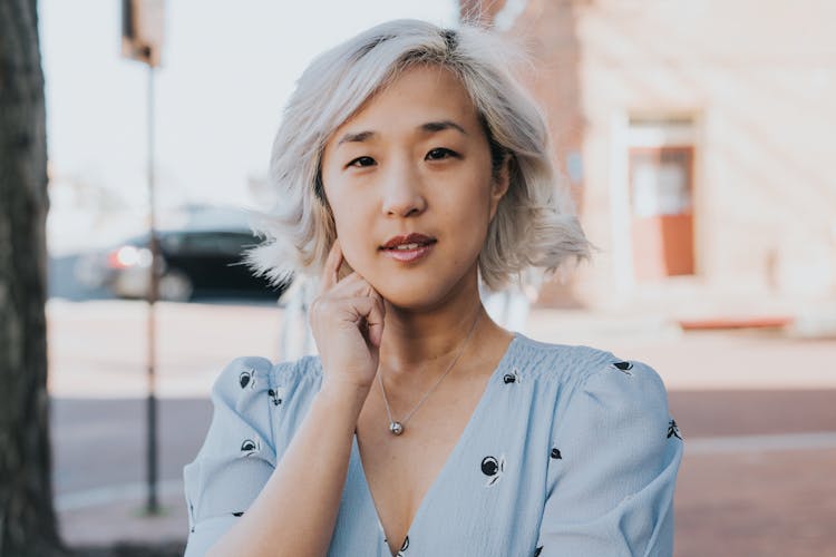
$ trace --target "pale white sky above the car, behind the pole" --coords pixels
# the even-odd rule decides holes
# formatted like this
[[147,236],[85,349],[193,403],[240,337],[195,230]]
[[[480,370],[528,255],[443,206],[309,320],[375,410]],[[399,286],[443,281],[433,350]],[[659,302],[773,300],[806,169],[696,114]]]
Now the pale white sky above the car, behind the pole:
[[[253,206],[297,78],[322,50],[375,23],[453,26],[455,0],[167,0],[155,71],[161,204]],[[148,70],[120,55],[120,2],[40,0],[47,141],[54,179],[147,202]]]

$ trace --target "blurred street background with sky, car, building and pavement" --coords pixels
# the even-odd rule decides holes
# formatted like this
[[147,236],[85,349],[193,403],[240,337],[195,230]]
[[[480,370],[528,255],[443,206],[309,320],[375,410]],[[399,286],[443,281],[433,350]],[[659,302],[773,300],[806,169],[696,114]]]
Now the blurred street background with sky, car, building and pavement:
[[182,467],[217,372],[237,355],[314,350],[310,287],[270,289],[230,265],[257,242],[243,209],[276,201],[272,136],[303,68],[380,21],[478,14],[528,50],[522,79],[600,248],[563,280],[485,292],[495,319],[659,371],[686,443],[675,555],[836,555],[836,3],[166,2],[150,89],[164,300],[154,516],[143,512],[148,68],[121,56],[119,2],[40,0],[38,13],[68,544],[182,543]]

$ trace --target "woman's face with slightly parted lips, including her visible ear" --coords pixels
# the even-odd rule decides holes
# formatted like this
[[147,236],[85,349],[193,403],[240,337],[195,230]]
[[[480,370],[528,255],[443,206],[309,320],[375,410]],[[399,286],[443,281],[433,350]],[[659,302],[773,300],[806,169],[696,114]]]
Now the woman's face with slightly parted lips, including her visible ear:
[[507,189],[507,172],[494,178],[490,163],[458,79],[440,67],[407,70],[325,144],[322,182],[346,261],[399,307],[475,286]]

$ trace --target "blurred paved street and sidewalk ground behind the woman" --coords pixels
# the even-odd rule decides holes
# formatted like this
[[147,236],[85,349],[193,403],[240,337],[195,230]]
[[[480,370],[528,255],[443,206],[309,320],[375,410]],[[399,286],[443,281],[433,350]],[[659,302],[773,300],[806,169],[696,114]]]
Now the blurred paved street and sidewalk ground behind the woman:
[[[52,301],[50,390],[57,506],[72,545],[182,539],[181,469],[196,452],[217,371],[279,356],[270,305],[161,304],[161,497],[142,516],[146,311]],[[836,555],[836,341],[689,333],[652,319],[535,312],[535,339],[606,348],[653,364],[686,438],[678,557]]]

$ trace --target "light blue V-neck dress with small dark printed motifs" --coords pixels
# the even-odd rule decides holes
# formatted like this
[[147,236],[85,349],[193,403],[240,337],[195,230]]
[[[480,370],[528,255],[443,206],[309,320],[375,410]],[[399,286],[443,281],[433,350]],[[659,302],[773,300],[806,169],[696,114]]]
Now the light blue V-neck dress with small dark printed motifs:
[[[246,512],[321,379],[318,356],[240,358],[220,375],[206,441],[184,470],[188,557]],[[681,458],[653,369],[516,333],[397,555],[670,556]],[[328,555],[391,555],[356,437]]]

